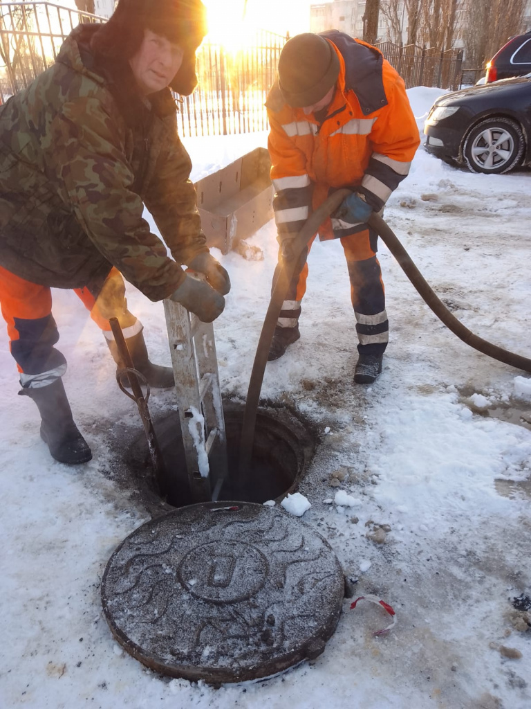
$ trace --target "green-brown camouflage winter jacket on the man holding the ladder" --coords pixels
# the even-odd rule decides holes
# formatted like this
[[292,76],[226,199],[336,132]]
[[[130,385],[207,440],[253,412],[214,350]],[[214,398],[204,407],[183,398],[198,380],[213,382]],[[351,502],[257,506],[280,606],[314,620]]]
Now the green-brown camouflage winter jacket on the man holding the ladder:
[[0,106],[0,264],[59,288],[101,283],[114,265],[158,301],[207,251],[190,157],[169,89],[148,103],[127,62],[98,66],[96,27],[76,28],[55,65]]

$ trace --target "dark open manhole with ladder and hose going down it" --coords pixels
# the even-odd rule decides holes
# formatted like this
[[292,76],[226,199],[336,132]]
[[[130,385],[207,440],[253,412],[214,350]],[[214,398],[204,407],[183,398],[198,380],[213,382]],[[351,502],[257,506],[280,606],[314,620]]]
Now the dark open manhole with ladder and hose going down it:
[[[225,404],[223,411],[227,432],[228,476],[224,479],[218,501],[263,503],[293,491],[314,454],[314,436],[302,421],[286,408],[258,409],[251,466],[244,476],[238,476],[244,407]],[[171,473],[167,502],[173,507],[195,503],[188,485],[178,412],[171,411],[163,415],[154,425],[166,470]],[[152,466],[143,435],[135,440],[129,453],[125,461],[127,467],[137,482],[154,492],[152,475],[147,474]],[[210,457],[212,489],[221,474],[220,451],[217,447]]]

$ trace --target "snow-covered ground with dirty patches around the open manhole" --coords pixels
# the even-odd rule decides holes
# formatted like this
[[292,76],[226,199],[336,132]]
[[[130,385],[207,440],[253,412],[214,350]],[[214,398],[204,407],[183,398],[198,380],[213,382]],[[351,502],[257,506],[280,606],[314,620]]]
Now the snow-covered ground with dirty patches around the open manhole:
[[[437,94],[409,91],[419,128]],[[265,140],[186,140],[193,179]],[[530,199],[528,170],[471,174],[421,148],[385,214],[455,315],[477,335],[527,357]],[[215,323],[227,397],[246,396],[275,235],[270,222],[251,240],[263,250],[261,261],[215,252],[233,284]],[[135,405],[116,389],[98,328],[72,292],[55,291],[59,346],[69,362],[64,382],[94,457],[79,468],[52,461],[35,406],[17,396],[1,328],[2,708],[529,709],[531,630],[521,630],[526,625],[512,601],[531,593],[531,430],[518,425],[520,415],[531,418],[530,378],[464,345],[433,316],[384,245],[379,258],[391,335],[377,382],[353,385],[355,321],[343,252],[338,242],[316,242],[302,337],[268,364],[263,396],[285,401],[321,430],[299,487],[312,503],[303,519],[358,579],[356,595],[374,593],[394,606],[391,632],[372,637],[385,625],[380,610],[350,610],[345,601],[316,661],[220,689],[170,681],[120,649],[103,618],[99,586],[113,549],[147,513],[114,479],[112,433],[115,422],[139,433],[141,425]],[[132,287],[128,298],[144,322],[152,359],[169,364],[161,304]],[[153,406],[167,397],[153,394]],[[353,506],[324,502],[341,490]],[[375,524],[390,527],[382,544],[367,538]],[[501,647],[522,657],[505,657]]]

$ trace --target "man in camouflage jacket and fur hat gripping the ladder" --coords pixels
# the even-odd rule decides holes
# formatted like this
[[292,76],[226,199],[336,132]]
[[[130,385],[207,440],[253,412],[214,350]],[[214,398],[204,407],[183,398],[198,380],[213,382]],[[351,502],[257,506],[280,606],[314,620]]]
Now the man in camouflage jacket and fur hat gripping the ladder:
[[204,34],[200,0],[120,0],[108,23],[73,30],[55,65],[0,107],[2,313],[21,393],[37,403],[41,436],[62,462],[91,453],[62,385],[50,287],[76,290],[120,364],[108,324],[118,317],[152,386],[172,386],[173,372],[149,362],[120,274],[152,301],[171,297],[205,321],[224,308],[229,277],[205,244],[167,87],[193,90]]

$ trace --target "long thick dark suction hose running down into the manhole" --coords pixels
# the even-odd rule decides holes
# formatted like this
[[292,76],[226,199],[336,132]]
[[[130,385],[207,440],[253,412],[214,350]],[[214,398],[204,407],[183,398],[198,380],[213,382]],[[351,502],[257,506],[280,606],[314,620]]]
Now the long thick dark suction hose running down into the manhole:
[[[292,242],[292,252],[295,255],[290,261],[282,263],[278,280],[271,294],[268,311],[265,314],[263,321],[262,332],[258,340],[256,356],[254,358],[253,369],[251,372],[251,380],[249,381],[249,391],[247,392],[247,401],[244,411],[244,420],[241,428],[241,443],[240,443],[240,462],[239,475],[243,476],[245,471],[249,469],[253,452],[254,429],[256,425],[256,411],[258,409],[258,401],[262,389],[263,374],[265,365],[268,361],[269,348],[275,325],[282,309],[282,303],[285,301],[287,289],[290,286],[290,281],[295,271],[298,257],[304,247],[307,245],[312,236],[319,229],[319,226],[335,211],[341,204],[343,199],[350,194],[348,189],[339,189],[329,196],[324,203],[317,208],[299,231]],[[435,315],[444,323],[447,328],[452,330],[452,333],[457,335],[463,342],[466,342],[475,350],[487,354],[493,359],[498,359],[499,362],[510,364],[516,369],[523,369],[524,372],[531,373],[531,359],[522,357],[520,354],[513,354],[508,350],[503,350],[502,347],[492,345],[491,342],[483,340],[481,337],[474,335],[468,328],[465,328],[462,323],[450,313],[448,308],[435,295],[421,272],[409,257],[408,252],[401,245],[389,226],[384,222],[382,217],[373,213],[369,219],[369,225],[374,229],[389,251],[395,257],[399,266],[409,278],[418,293],[422,296],[427,305],[433,310]]]

